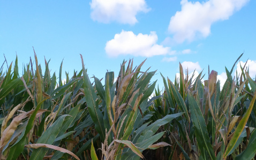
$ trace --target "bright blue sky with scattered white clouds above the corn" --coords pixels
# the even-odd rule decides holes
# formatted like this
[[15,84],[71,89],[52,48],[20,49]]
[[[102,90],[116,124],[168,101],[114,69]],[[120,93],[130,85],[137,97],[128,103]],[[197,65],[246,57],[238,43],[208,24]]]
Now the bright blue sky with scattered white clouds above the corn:
[[[18,55],[19,67],[37,58],[51,74],[81,69],[84,57],[89,75],[118,75],[122,61],[142,70],[157,69],[174,80],[179,62],[189,73],[214,69],[224,79],[225,66],[244,52],[251,76],[256,74],[256,1],[3,1],[0,0],[0,62],[8,65]],[[5,65],[6,66],[6,65]],[[64,73],[63,73],[64,74]]]

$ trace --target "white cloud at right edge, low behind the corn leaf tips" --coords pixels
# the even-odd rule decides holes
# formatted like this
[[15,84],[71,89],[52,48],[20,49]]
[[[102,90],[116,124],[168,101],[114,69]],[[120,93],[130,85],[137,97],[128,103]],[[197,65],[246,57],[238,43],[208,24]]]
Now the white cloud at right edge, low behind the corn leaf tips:
[[[241,75],[241,73],[242,73],[242,71],[240,69],[240,64],[241,64],[242,67],[244,67],[245,62],[240,61],[240,63],[237,64],[237,74],[238,75]],[[246,67],[247,67],[247,69],[249,67],[249,75],[250,75],[250,77],[251,78],[255,78],[255,75],[256,75],[256,60],[255,61],[248,60],[247,63],[246,63]],[[246,69],[246,67],[245,67],[245,69]],[[247,71],[247,69],[246,69],[246,71]]]

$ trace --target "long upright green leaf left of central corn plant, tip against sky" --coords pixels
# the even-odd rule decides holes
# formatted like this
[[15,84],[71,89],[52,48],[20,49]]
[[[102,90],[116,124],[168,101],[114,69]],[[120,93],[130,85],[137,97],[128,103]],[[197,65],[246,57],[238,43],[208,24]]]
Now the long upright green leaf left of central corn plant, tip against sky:
[[102,123],[102,122],[104,122],[103,115],[100,111],[99,104],[96,101],[97,95],[93,89],[93,85],[92,85],[92,83],[87,75],[87,72],[85,70],[84,60],[82,59],[82,55],[81,55],[81,60],[82,60],[82,70],[83,70],[83,74],[84,74],[85,99],[87,102],[88,110],[93,119],[93,122],[95,123],[96,131],[100,134],[101,139],[104,140],[105,139],[105,127],[104,127],[104,124]]

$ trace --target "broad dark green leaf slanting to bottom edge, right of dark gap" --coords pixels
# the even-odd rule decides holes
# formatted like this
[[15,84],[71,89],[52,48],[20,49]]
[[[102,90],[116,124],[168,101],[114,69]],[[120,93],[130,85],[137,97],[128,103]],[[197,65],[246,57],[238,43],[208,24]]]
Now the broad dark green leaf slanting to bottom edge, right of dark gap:
[[207,133],[207,127],[205,124],[204,116],[202,115],[202,112],[198,106],[197,101],[195,101],[190,92],[188,94],[188,98],[191,119],[195,128],[195,136],[197,137],[198,146],[199,149],[201,150],[202,156],[206,157],[206,155],[204,155],[204,150],[207,150],[210,158],[216,159],[213,151],[213,146],[210,144],[210,138]]

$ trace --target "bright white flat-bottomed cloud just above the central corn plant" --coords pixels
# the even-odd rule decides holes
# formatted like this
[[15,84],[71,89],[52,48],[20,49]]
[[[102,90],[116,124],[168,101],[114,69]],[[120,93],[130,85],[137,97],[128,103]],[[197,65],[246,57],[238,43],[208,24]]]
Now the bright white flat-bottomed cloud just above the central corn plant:
[[135,35],[132,31],[124,31],[116,34],[114,39],[106,43],[105,50],[110,57],[118,55],[133,55],[142,57],[152,57],[154,55],[164,55],[170,52],[170,47],[156,44],[157,35],[155,31],[150,34]]

